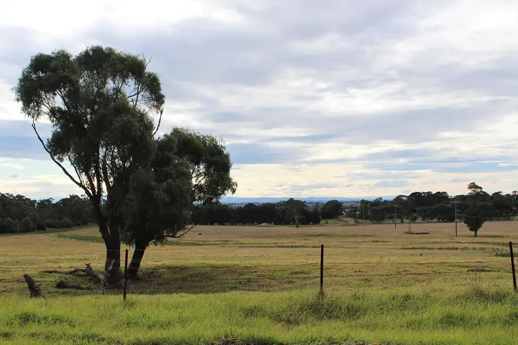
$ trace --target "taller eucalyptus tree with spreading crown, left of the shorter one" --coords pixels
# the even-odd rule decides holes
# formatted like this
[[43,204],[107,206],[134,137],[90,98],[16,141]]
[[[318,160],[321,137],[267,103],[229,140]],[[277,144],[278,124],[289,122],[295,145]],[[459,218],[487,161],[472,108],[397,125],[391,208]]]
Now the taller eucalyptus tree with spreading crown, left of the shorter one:
[[[93,207],[106,246],[107,287],[121,282],[121,206],[135,172],[153,159],[152,115],[162,117],[160,79],[147,66],[144,57],[102,46],[75,56],[57,50],[31,57],[14,88],[44,150]],[[46,140],[40,119],[52,124]]]

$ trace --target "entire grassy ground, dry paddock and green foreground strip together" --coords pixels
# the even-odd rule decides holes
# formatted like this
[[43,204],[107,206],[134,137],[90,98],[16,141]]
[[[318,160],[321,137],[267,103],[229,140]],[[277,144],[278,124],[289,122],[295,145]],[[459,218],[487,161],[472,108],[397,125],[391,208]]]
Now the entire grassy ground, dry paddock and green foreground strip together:
[[[0,237],[0,344],[518,344],[518,223],[200,226],[151,247],[128,300],[45,270],[104,266],[95,228]],[[319,298],[320,244],[325,297]],[[131,251],[130,251],[131,255]],[[46,297],[28,299],[28,273]],[[59,290],[66,282],[90,290]],[[171,295],[175,293],[175,295]],[[119,293],[117,293],[119,294]]]

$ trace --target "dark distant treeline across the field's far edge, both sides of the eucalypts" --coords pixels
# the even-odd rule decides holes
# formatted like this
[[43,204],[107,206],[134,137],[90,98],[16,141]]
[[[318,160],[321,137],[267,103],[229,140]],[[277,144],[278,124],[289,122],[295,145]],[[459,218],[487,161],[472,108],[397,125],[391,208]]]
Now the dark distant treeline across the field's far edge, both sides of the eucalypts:
[[[276,224],[296,226],[319,224],[322,219],[346,215],[355,221],[382,223],[394,220],[454,221],[472,219],[507,220],[517,215],[518,192],[488,194],[477,184],[468,186],[470,193],[450,196],[446,192],[414,192],[393,200],[361,200],[345,206],[338,200],[307,204],[288,199],[276,203],[230,206],[222,203],[198,206],[191,215],[192,224]],[[482,221],[482,222],[483,222]],[[0,233],[26,233],[46,228],[70,228],[95,222],[86,197],[70,195],[59,201],[29,199],[23,195],[0,193]]]

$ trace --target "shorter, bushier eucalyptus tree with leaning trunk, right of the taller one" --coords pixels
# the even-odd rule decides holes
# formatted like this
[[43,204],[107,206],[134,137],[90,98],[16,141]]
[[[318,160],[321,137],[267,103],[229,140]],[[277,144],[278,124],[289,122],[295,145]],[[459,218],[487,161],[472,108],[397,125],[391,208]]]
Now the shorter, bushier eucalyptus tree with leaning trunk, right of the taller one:
[[186,235],[196,225],[193,212],[236,192],[231,166],[224,144],[211,135],[173,128],[157,140],[153,159],[131,179],[122,212],[124,242],[135,246],[130,279],[139,279],[151,242],[164,244]]

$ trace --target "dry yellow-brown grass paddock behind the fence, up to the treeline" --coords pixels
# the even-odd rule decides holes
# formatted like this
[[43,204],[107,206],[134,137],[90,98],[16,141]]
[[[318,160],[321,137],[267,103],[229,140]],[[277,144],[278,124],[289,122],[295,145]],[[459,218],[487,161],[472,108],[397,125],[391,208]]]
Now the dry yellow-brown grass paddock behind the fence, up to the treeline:
[[[132,293],[219,293],[318,288],[320,244],[325,244],[325,287],[451,289],[473,284],[512,287],[508,242],[518,223],[488,222],[479,237],[459,224],[413,224],[426,235],[407,235],[407,224],[365,226],[200,226],[183,239],[147,250],[144,282]],[[50,294],[64,270],[91,262],[104,266],[96,228],[0,237],[0,293],[26,294],[23,273]],[[131,251],[130,251],[131,255]],[[496,271],[496,272],[495,272]],[[73,282],[73,277],[64,277]],[[80,283],[86,284],[86,281]],[[73,293],[97,293],[96,290]]]

